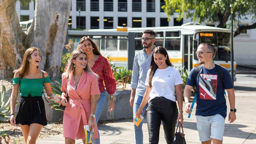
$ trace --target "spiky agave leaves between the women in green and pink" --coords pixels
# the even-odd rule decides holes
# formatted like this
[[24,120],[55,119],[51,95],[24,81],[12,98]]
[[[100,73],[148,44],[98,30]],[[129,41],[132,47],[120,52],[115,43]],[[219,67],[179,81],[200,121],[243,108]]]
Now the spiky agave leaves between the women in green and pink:
[[[55,81],[56,85],[51,84],[52,93],[61,96],[61,94],[62,94],[62,92],[61,92],[62,81],[59,80],[58,78],[55,78],[54,81]],[[60,109],[60,107],[59,107],[59,105],[57,103],[51,103],[49,105],[51,105],[52,108],[54,108],[55,110],[63,111],[62,109]]]

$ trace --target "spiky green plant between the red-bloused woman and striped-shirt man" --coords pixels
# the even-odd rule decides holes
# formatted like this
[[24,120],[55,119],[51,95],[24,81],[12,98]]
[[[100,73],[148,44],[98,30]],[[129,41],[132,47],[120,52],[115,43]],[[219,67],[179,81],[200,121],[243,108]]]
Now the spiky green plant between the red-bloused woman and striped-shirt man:
[[119,68],[117,72],[114,73],[115,80],[118,84],[122,84],[126,87],[126,83],[131,83],[132,71],[126,68]]

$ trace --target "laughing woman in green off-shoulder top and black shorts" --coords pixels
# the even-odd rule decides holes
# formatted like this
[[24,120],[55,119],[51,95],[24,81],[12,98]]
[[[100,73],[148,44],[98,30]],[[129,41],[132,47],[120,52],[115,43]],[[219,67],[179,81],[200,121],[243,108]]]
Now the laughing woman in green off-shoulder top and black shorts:
[[[20,125],[26,144],[35,144],[43,125],[47,125],[45,105],[42,99],[43,85],[48,99],[54,99],[60,105],[60,96],[52,94],[50,76],[47,72],[38,69],[40,61],[40,50],[31,47],[26,50],[21,67],[14,71],[10,123],[13,126]],[[19,88],[21,97],[15,116],[15,103]]]

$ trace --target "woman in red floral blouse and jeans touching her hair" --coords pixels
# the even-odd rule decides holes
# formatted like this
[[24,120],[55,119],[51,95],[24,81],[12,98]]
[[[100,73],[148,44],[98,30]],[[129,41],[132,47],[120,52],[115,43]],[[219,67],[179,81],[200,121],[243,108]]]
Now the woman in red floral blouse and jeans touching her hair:
[[[83,50],[87,55],[88,64],[94,73],[99,75],[99,88],[101,96],[97,101],[97,108],[95,112],[96,122],[101,116],[106,99],[105,99],[105,88],[110,96],[109,112],[114,109],[114,97],[113,93],[116,91],[116,81],[114,79],[110,64],[107,58],[103,57],[97,47],[97,45],[88,37],[82,37],[78,43],[77,49]],[[104,82],[103,82],[104,81]],[[104,86],[105,84],[105,86]],[[98,131],[99,138],[94,139],[93,144],[100,144],[100,134]]]

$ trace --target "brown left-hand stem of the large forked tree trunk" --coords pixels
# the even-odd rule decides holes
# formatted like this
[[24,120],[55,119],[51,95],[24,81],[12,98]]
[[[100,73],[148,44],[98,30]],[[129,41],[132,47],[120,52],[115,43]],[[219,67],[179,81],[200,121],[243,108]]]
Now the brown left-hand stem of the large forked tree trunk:
[[0,79],[11,78],[22,63],[26,34],[22,31],[14,0],[0,0]]

